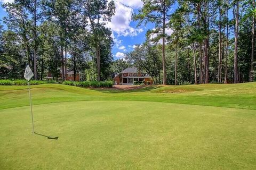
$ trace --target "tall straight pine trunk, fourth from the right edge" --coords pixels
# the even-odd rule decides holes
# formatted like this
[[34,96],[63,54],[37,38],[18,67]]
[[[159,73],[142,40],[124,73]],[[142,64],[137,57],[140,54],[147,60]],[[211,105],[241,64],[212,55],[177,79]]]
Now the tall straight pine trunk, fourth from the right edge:
[[219,65],[218,65],[218,83],[221,82],[221,63],[222,63],[222,57],[221,57],[221,1],[219,1]]

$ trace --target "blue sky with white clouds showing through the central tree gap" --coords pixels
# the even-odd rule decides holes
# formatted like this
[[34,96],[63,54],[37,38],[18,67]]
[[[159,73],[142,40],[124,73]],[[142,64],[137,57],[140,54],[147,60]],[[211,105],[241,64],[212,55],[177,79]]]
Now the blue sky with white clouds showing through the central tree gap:
[[[12,2],[13,0],[0,0],[0,3]],[[116,6],[115,15],[112,16],[111,22],[106,24],[106,27],[112,31],[114,46],[112,53],[114,60],[123,58],[126,52],[134,49],[136,44],[141,44],[145,41],[146,32],[154,28],[154,24],[148,23],[137,27],[138,22],[132,21],[132,13],[138,13],[138,10],[143,6],[141,0],[114,0]],[[173,10],[174,11],[174,10]],[[0,7],[0,19],[6,16],[6,12]],[[171,33],[171,30],[167,30]]]

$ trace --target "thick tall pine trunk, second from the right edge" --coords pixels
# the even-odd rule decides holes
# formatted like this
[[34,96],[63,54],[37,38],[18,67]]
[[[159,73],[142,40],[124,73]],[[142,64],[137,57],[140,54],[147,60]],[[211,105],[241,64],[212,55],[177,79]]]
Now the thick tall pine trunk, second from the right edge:
[[239,21],[239,1],[236,0],[236,25],[235,25],[235,55],[234,55],[234,83],[238,83],[237,49],[238,49],[238,21]]

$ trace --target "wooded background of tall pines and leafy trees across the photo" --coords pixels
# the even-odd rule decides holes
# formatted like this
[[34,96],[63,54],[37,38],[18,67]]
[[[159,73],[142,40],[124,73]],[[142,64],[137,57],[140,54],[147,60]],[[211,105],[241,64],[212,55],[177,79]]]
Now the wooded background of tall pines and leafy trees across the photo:
[[[156,84],[240,83],[255,80],[255,1],[143,0],[132,19],[153,23],[146,41],[114,61],[115,14],[107,0],[17,0],[5,3],[0,26],[0,79],[36,80],[70,71],[82,80],[111,80],[129,66]],[[173,7],[178,6],[173,10]],[[171,29],[171,35],[166,30]]]

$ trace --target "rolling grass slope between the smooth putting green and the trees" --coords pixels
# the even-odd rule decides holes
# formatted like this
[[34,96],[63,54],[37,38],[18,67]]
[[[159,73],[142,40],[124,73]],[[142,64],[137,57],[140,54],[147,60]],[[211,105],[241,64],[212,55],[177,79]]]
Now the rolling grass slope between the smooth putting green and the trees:
[[[31,88],[35,105],[81,100],[138,100],[256,109],[256,83],[149,86],[129,91],[63,84],[41,84]],[[27,98],[27,86],[0,86],[0,109],[28,106]]]

